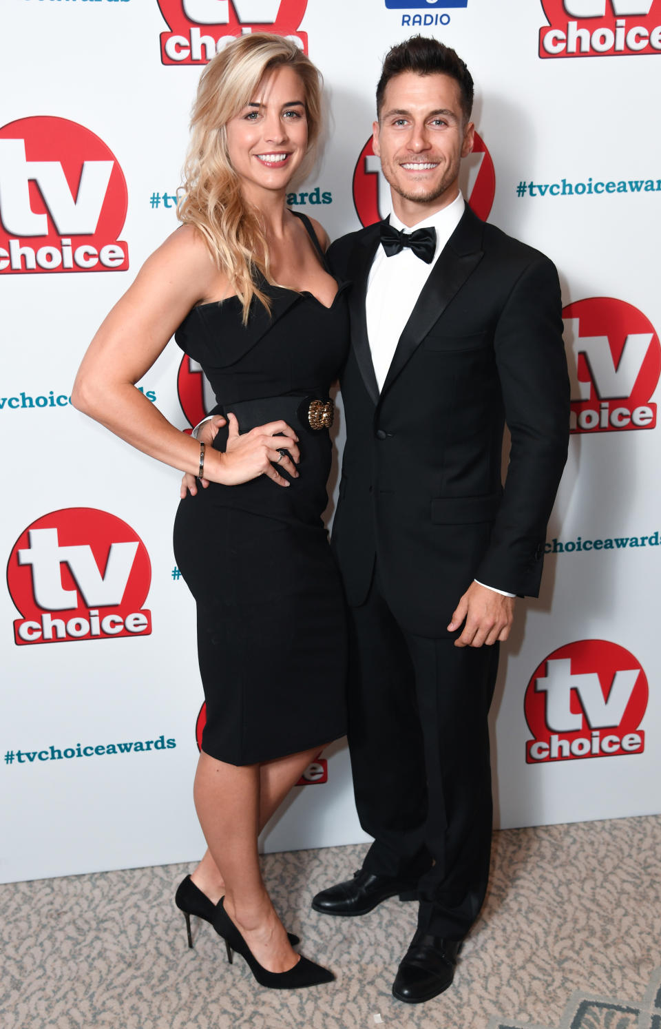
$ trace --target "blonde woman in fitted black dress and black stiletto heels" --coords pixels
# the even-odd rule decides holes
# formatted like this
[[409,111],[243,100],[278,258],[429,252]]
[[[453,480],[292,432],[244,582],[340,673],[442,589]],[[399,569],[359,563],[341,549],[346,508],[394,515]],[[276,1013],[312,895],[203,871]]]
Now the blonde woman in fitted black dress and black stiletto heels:
[[[208,851],[177,904],[213,922],[264,986],[330,982],[299,957],[261,879],[260,829],[321,748],[344,734],[341,589],[321,513],[328,388],[347,346],[325,234],[285,207],[314,156],[319,73],[288,40],[236,39],[205,69],[183,225],[95,336],[72,401],[206,490],[182,500],[175,553],[197,604],[207,724],[194,799]],[[321,240],[321,243],[320,243]],[[213,447],[136,389],[176,331],[224,416]]]

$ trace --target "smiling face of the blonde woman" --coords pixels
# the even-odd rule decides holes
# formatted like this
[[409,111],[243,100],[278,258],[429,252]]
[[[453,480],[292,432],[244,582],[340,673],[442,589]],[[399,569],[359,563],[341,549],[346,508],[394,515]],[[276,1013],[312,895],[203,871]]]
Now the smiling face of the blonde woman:
[[276,68],[227,122],[227,148],[251,199],[286,189],[307,150],[305,90],[292,68]]

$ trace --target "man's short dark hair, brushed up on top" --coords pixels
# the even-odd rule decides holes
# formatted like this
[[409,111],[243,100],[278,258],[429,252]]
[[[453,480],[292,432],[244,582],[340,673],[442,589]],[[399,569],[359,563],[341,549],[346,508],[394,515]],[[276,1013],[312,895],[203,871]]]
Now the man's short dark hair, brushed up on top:
[[376,86],[376,116],[380,118],[385,86],[396,75],[412,71],[416,75],[449,75],[460,87],[462,112],[467,121],[473,110],[473,77],[458,54],[438,39],[411,36],[385,55]]

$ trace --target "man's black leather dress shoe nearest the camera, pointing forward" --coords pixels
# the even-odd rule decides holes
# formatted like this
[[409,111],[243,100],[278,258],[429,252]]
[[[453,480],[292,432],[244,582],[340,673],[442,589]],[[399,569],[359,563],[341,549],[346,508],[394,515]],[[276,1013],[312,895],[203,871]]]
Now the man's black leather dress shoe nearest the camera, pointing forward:
[[407,1004],[437,997],[452,985],[461,939],[443,939],[416,932],[399,966],[393,995]]

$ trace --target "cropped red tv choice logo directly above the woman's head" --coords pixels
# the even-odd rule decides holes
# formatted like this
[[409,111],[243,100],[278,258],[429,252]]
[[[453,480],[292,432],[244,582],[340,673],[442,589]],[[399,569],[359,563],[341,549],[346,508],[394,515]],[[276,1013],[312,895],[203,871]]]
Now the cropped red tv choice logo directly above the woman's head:
[[307,0],[158,0],[169,32],[160,34],[164,65],[207,64],[236,36],[274,32],[307,52],[300,32]]

